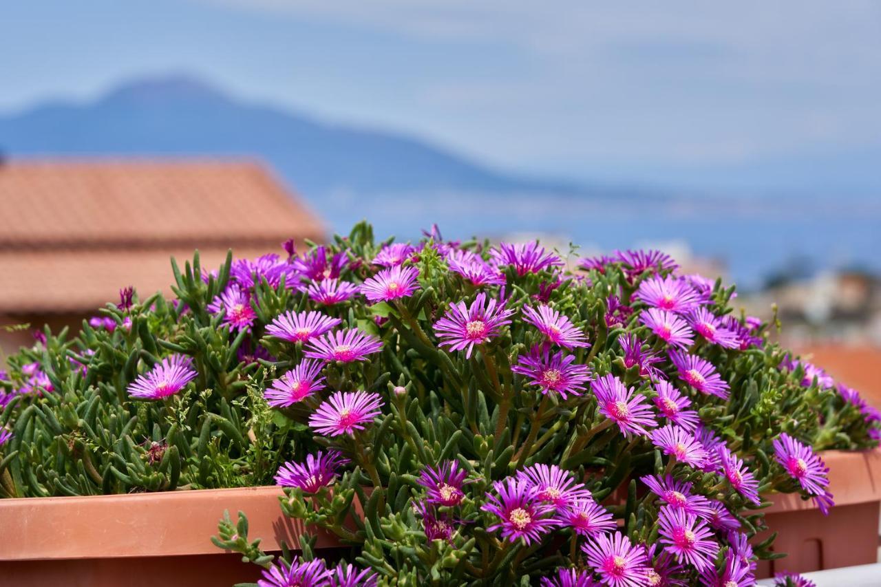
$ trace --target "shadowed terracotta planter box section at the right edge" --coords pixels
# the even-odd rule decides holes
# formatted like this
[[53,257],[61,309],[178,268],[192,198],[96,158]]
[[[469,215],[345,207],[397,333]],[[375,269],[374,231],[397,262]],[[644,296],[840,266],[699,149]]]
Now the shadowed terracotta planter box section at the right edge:
[[774,494],[765,509],[770,531],[778,532],[774,551],[787,553],[776,561],[760,561],[759,578],[783,570],[806,573],[853,567],[878,560],[878,517],[881,514],[881,450],[822,454],[829,467],[829,490],[835,507],[823,516],[795,494]]

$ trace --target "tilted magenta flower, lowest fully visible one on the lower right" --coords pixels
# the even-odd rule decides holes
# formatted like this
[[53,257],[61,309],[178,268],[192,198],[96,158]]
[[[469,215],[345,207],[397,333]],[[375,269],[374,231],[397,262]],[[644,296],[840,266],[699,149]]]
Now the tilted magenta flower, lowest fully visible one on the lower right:
[[713,565],[719,553],[719,543],[714,541],[713,531],[707,528],[706,522],[670,506],[661,508],[658,521],[661,544],[677,561],[686,561],[699,572]]

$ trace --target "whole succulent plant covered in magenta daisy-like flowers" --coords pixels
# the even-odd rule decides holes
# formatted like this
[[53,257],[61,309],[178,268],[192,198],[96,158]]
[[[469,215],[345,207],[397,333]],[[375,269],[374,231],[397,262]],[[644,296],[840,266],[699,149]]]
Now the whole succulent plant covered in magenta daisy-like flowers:
[[[573,266],[536,242],[374,244],[174,265],[76,338],[9,360],[0,492],[276,482],[352,562],[259,584],[746,585],[774,492],[833,505],[818,450],[877,445],[854,390],[767,339],[733,287],[657,251]],[[356,511],[361,512],[356,515]]]

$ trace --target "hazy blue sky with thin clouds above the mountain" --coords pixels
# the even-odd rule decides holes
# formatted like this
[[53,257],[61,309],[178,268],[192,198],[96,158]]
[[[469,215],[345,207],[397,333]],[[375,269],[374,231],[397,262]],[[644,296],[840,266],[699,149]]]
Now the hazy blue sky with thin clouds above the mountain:
[[834,185],[881,153],[876,2],[4,5],[0,112],[180,71],[535,174]]

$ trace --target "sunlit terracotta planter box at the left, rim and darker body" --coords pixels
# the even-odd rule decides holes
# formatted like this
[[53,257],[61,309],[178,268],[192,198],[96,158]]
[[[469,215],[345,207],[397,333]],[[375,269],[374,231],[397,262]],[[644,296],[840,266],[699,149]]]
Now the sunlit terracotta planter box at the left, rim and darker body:
[[[228,509],[248,515],[267,552],[298,544],[280,487],[0,500],[0,587],[218,587],[254,582],[260,568],[211,544]],[[317,531],[316,547],[340,546]]]

